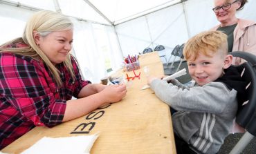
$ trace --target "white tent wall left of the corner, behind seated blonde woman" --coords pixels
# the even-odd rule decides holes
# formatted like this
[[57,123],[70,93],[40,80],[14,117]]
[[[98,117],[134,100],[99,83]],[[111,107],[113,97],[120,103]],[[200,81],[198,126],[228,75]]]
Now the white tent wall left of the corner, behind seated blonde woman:
[[[0,3],[0,44],[23,35],[26,21],[35,11]],[[99,83],[108,75],[107,68],[116,70],[122,64],[116,32],[112,26],[90,21],[77,21],[73,36],[73,55],[77,57],[85,79]]]

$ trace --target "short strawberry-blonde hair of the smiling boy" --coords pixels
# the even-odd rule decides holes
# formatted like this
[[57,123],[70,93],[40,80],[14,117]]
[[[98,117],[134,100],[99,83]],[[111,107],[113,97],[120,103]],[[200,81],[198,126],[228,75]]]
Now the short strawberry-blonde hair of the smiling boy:
[[185,44],[183,55],[185,59],[195,60],[199,54],[211,57],[212,53],[228,54],[227,35],[221,31],[205,31],[190,38]]

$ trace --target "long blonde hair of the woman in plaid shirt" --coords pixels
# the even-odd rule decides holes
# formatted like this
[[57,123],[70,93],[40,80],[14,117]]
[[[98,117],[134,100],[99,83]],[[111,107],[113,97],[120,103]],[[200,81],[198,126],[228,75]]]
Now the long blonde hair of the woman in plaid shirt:
[[[62,31],[62,30],[73,30],[73,23],[68,17],[53,12],[50,10],[41,10],[36,12],[26,23],[26,28],[22,38],[17,38],[7,42],[0,46],[0,52],[14,52],[19,55],[30,56],[33,59],[42,59],[46,66],[53,74],[53,77],[57,83],[57,86],[62,86],[62,80],[60,78],[60,71],[55,68],[50,59],[44,54],[44,52],[37,46],[33,37],[33,31],[36,30],[39,35],[46,37],[51,32]],[[12,48],[8,47],[10,44],[16,44],[24,42],[28,44],[28,47],[24,48]],[[68,54],[64,61],[64,66],[68,69],[68,73],[71,73],[71,77],[75,79],[73,66],[71,64],[71,55]]]

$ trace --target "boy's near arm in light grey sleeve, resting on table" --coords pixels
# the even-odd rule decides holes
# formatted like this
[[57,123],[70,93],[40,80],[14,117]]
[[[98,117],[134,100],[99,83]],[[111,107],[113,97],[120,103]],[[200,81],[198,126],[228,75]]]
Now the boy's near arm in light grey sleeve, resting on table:
[[220,82],[195,86],[188,90],[155,79],[150,87],[159,99],[176,110],[221,113],[227,102],[236,102],[237,92],[228,90]]

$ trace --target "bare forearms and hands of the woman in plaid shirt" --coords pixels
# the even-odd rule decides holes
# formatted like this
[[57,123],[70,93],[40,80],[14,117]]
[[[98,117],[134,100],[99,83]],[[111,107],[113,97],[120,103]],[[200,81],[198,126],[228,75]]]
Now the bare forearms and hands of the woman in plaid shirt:
[[[125,84],[111,86],[90,84],[85,87],[82,93],[88,95],[87,97],[66,102],[63,122],[86,115],[104,104],[119,102],[127,93]],[[95,87],[100,90],[99,93],[95,93]]]

